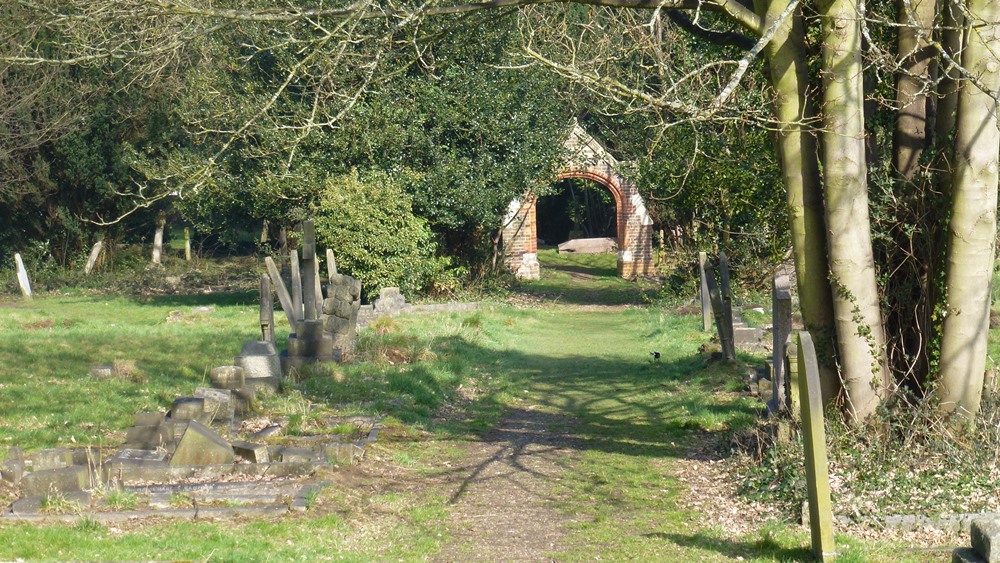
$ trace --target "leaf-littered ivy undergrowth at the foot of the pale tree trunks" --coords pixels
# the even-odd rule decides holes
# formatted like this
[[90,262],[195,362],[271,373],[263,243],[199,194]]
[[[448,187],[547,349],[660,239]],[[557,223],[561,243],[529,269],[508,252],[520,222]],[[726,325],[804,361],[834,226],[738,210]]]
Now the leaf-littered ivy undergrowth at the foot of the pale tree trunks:
[[[794,421],[777,439],[777,421],[739,434],[731,469],[740,493],[781,506],[791,517],[806,499],[802,441]],[[933,400],[900,394],[873,420],[848,424],[831,410],[827,453],[834,513],[876,524],[886,516],[940,517],[1000,511],[1000,394],[984,395],[974,428],[956,431]]]

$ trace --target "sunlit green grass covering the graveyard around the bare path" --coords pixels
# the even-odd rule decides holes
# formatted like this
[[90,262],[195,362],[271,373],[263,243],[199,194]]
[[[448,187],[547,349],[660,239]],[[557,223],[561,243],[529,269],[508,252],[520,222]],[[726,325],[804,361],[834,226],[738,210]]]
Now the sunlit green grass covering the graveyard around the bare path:
[[[613,271],[614,256],[543,255],[544,263],[597,275]],[[321,414],[384,417],[386,429],[365,463],[398,472],[390,489],[372,492],[366,469],[353,481],[324,488],[310,499],[309,511],[273,521],[157,522],[123,530],[88,520],[0,523],[0,555],[433,558],[450,540],[450,505],[441,488],[425,480],[440,475],[443,462],[460,460],[465,444],[511,409],[530,405],[579,444],[549,491],[576,524],[569,547],[547,555],[570,561],[805,558],[808,534],[798,526],[771,523],[735,535],[679,507],[686,487],[676,474],[692,448],[716,439],[728,447],[729,433],[752,425],[761,409],[739,392],[738,368],[709,364],[698,354],[707,338],[700,319],[649,306],[576,307],[642,303],[655,288],[549,270],[546,278],[523,285],[545,303],[382,321],[377,331],[362,334],[355,363],[313,370],[264,402],[268,412],[296,417],[297,432],[305,434]],[[2,305],[0,365],[7,367],[0,372],[0,445],[29,452],[55,445],[117,446],[134,412],[166,408],[174,397],[191,393],[210,368],[230,363],[244,340],[257,337],[256,296],[250,293],[72,295]],[[196,310],[202,306],[213,309]],[[180,314],[171,316],[173,311]],[[288,329],[278,322],[281,338]],[[650,356],[654,350],[659,361]],[[134,362],[146,382],[88,375],[91,364],[115,360]],[[114,502],[127,507],[135,501]],[[176,501],[190,505],[187,497]],[[892,544],[840,537],[838,545],[842,561],[901,560]]]

